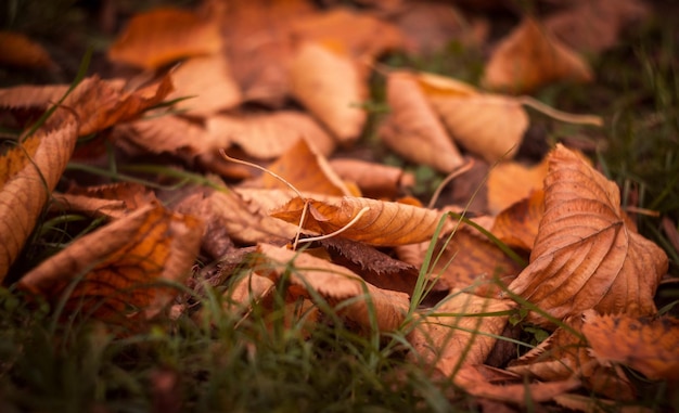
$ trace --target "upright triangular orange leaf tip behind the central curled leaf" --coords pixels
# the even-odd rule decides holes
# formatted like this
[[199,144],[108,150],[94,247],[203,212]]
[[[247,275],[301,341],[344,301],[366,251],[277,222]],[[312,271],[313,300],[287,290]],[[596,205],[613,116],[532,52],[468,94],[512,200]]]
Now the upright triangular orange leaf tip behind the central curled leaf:
[[[328,159],[323,155],[315,153],[304,139],[299,139],[267,169],[283,178],[298,191],[331,196],[354,195],[332,170]],[[264,173],[260,182],[264,188],[289,188],[284,182],[269,173]]]

